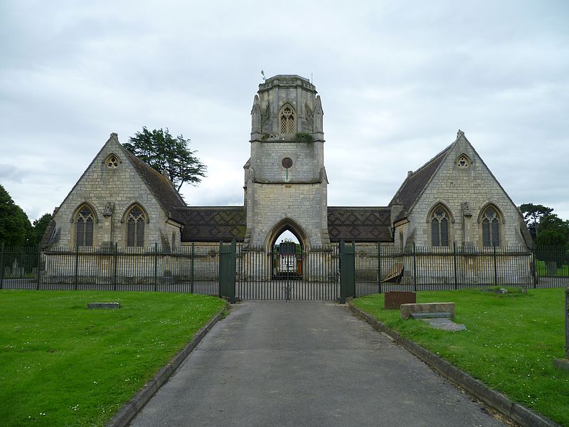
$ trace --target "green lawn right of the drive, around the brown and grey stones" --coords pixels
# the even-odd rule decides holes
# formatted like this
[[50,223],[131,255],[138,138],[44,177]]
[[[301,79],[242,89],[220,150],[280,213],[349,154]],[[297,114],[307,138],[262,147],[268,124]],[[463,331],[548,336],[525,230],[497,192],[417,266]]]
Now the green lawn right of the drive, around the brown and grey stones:
[[454,302],[462,332],[432,329],[384,310],[383,295],[353,300],[404,337],[469,372],[492,389],[569,426],[569,372],[553,367],[565,357],[563,289],[498,295],[482,290],[418,292],[417,302]]

